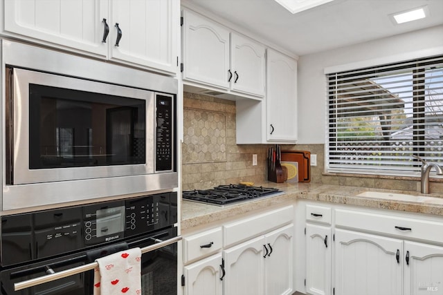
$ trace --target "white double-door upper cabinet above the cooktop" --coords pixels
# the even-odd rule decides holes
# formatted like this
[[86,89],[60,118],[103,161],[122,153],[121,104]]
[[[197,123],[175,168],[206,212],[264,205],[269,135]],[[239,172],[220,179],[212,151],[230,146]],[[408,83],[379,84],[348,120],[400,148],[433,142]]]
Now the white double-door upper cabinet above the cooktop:
[[183,80],[225,93],[263,97],[264,46],[221,24],[183,10]]

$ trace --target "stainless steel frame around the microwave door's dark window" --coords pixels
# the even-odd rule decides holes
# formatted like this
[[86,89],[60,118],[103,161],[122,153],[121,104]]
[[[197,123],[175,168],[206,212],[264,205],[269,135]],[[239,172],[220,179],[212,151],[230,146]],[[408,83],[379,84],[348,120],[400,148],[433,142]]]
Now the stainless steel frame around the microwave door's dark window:
[[[81,180],[154,173],[154,93],[113,84],[14,69],[14,184]],[[146,102],[146,164],[29,169],[29,84],[143,99]],[[24,147],[23,147],[24,146]]]

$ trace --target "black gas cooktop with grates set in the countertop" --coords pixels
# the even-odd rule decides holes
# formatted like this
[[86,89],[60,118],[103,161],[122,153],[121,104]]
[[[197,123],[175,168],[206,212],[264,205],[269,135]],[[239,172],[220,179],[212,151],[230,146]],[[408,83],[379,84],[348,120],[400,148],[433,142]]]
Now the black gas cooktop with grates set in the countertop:
[[271,187],[249,187],[243,184],[219,185],[214,189],[183,191],[183,199],[219,206],[282,193]]

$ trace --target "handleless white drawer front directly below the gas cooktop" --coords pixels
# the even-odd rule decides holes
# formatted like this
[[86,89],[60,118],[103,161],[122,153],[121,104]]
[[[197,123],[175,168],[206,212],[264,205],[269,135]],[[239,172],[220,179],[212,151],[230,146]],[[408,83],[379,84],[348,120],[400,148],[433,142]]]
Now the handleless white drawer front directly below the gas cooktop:
[[251,218],[224,225],[224,247],[242,242],[273,229],[287,225],[293,220],[293,206],[287,206]]

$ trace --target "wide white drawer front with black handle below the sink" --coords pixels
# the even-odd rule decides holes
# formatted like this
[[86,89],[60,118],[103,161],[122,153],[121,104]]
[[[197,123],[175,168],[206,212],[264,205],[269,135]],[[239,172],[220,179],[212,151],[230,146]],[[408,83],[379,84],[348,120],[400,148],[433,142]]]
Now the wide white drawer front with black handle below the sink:
[[335,223],[336,227],[443,243],[443,222],[336,209]]

